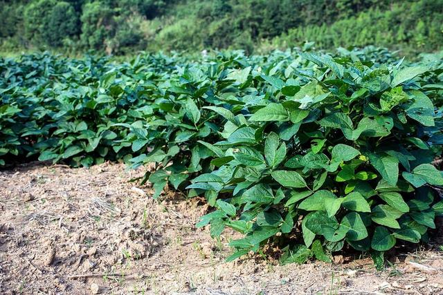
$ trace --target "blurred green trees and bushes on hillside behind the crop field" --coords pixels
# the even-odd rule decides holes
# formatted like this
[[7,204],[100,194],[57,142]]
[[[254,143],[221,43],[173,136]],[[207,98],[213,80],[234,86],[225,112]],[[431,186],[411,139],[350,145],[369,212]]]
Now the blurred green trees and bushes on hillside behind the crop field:
[[0,0],[3,50],[442,49],[443,0]]

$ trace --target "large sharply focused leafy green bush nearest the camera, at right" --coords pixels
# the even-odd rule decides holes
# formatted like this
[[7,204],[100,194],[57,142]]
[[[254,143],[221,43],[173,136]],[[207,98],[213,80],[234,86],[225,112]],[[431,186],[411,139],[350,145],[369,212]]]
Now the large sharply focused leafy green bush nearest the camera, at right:
[[199,226],[245,235],[230,242],[237,251],[229,259],[273,240],[284,247],[282,263],[330,261],[344,247],[370,251],[377,263],[397,240],[426,241],[443,213],[434,189],[442,172],[428,144],[441,129],[428,86],[415,79],[430,69],[301,57],[314,68],[289,67],[286,82],[269,75],[274,69],[253,71],[241,88],[261,80],[264,97],[212,108],[227,122],[224,139],[206,143],[217,169],[188,186],[217,207]]

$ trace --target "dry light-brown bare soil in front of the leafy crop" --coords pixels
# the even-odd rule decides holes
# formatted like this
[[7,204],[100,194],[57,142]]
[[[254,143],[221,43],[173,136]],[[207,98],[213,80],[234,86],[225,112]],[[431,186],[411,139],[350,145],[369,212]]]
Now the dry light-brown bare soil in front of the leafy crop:
[[343,256],[225,263],[236,235],[213,240],[195,228],[204,200],[166,191],[156,201],[128,182],[143,173],[109,163],[0,171],[0,294],[443,294],[435,239],[397,252],[383,272],[369,258]]

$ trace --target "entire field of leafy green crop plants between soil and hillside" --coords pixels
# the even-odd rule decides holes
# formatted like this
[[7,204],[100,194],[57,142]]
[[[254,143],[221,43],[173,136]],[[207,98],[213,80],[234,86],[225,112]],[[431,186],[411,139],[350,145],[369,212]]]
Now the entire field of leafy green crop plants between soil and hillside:
[[[233,260],[266,243],[281,263],[426,242],[443,215],[443,55],[145,54],[116,62],[0,58],[0,166],[155,163],[140,181],[204,196]],[[354,250],[351,250],[354,249]]]

